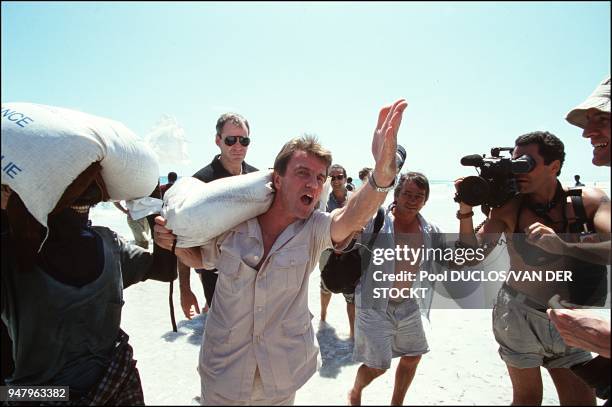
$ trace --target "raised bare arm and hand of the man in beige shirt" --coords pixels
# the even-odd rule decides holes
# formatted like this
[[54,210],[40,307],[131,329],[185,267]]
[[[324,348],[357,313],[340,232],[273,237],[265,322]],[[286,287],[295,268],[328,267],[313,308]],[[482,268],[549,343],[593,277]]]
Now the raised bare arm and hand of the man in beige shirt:
[[[400,99],[391,106],[385,106],[378,115],[378,123],[372,139],[372,154],[376,166],[372,177],[380,187],[391,185],[397,173],[395,153],[397,132],[402,114],[408,103]],[[369,183],[359,188],[346,206],[334,214],[331,224],[331,238],[334,243],[345,241],[353,232],[359,231],[372,219],[374,213],[385,201],[386,192],[377,192]]]

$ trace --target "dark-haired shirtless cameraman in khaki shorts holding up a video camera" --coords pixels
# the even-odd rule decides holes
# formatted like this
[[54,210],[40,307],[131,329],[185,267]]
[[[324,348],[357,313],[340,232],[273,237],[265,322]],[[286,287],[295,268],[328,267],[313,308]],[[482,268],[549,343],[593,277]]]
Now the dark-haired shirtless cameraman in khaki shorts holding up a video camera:
[[[535,246],[525,242],[525,237],[533,240],[544,233],[574,230],[576,213],[572,203],[567,203],[567,191],[557,179],[565,158],[563,143],[548,132],[528,133],[515,141],[513,158],[522,155],[534,160],[533,169],[516,175],[519,194],[501,207],[493,208],[478,235],[473,229],[472,207],[460,202],[457,218],[461,242],[493,246],[501,233],[505,233],[511,269],[539,270],[545,266],[548,270],[573,270],[576,267],[572,261],[577,260],[554,255],[543,264],[533,256]],[[458,188],[461,182],[462,179],[457,180],[455,186]],[[595,231],[609,233],[610,218],[597,216],[605,194],[584,188],[581,198],[587,220],[594,223]],[[567,346],[547,318],[546,304],[555,294],[568,298],[567,283],[508,279],[498,294],[493,308],[493,332],[512,381],[512,404],[542,403],[540,366],[543,366],[555,383],[561,404],[595,405],[594,392],[569,369],[592,359],[591,354]]]

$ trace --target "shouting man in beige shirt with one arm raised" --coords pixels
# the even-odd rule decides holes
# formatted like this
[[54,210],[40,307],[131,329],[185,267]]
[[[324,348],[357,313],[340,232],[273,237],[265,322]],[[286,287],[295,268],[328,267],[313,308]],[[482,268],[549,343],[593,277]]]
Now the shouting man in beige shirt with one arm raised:
[[[321,252],[341,247],[372,218],[393,188],[397,131],[405,100],[381,109],[372,141],[370,182],[346,206],[315,211],[331,153],[315,139],[285,144],[276,157],[270,209],[204,246],[176,254],[191,267],[219,270],[206,321],[199,372],[204,405],[292,405],[316,371],[308,278]],[[174,236],[156,219],[156,242]]]

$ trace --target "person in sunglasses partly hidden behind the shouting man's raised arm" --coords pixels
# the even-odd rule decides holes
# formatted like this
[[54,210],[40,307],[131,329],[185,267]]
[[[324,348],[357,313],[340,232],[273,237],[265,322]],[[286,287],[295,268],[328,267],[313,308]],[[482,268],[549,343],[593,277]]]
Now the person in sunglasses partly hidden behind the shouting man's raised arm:
[[[329,167],[329,178],[331,178],[331,187],[332,190],[329,193],[329,197],[327,199],[327,206],[325,208],[326,212],[331,212],[336,208],[342,208],[346,205],[351,196],[351,193],[348,191],[346,187],[346,170],[340,164],[333,164]],[[319,258],[319,270],[323,270],[325,264],[329,260],[330,255],[332,254],[333,249],[326,249],[321,253],[321,257]],[[325,286],[323,279],[321,279],[320,283],[320,292],[321,292],[321,321],[325,321],[327,318],[327,307],[329,306],[329,302],[331,301],[332,292]],[[355,327],[355,293],[351,294],[342,294],[344,296],[344,300],[346,301],[346,314],[348,315],[350,334],[349,336],[352,338],[354,334]]]

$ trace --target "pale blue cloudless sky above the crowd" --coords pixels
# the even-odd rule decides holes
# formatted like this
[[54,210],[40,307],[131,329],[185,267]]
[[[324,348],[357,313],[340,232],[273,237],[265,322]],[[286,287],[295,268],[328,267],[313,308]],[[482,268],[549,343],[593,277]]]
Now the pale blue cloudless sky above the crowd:
[[406,98],[406,169],[473,175],[463,155],[533,130],[566,145],[562,179],[609,180],[565,114],[610,72],[610,4],[2,2],[2,102],[69,107],[144,136],[185,129],[191,175],[226,111],[251,124],[247,162],[316,134],[349,175],[372,165],[379,108]]

